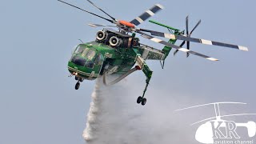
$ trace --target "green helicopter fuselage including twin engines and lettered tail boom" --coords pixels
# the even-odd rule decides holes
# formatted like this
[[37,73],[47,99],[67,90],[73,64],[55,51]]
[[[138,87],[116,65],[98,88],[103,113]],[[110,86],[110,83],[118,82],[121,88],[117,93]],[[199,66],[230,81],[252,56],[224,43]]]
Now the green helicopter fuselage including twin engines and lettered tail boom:
[[75,48],[68,70],[77,80],[94,80],[106,72],[126,74],[137,62],[138,69],[150,77],[152,71],[145,66],[144,60],[164,60],[168,54],[165,49],[163,51],[140,44],[135,34],[103,29],[98,31],[95,41],[79,44]]

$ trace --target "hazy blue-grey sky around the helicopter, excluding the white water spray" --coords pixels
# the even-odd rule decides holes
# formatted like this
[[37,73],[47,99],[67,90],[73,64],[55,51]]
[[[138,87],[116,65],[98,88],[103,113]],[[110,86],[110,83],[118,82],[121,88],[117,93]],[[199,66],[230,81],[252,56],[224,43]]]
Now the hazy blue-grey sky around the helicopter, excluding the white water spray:
[[[86,1],[67,2],[103,15]],[[159,1],[94,2],[114,17],[129,21]],[[148,93],[162,89],[170,90],[161,94],[170,100],[177,97],[172,94],[178,94],[205,98],[204,102],[249,102],[249,110],[255,112],[256,2],[166,0],[160,3],[165,10],[152,19],[184,29],[186,15],[190,14],[190,28],[202,19],[194,37],[248,46],[250,51],[192,44],[193,50],[221,61],[186,58],[180,52],[175,58],[170,54],[165,70],[161,70],[159,62],[148,62],[154,70]],[[82,82],[81,89],[74,90],[75,82],[67,77],[66,64],[78,39],[93,41],[100,30],[86,26],[87,23],[109,23],[57,0],[2,1],[0,18],[0,143],[84,143],[82,130],[94,82]],[[140,27],[167,32],[150,22]],[[162,49],[146,39],[141,42]],[[130,78],[137,78],[141,89],[144,87],[142,73]],[[138,95],[132,95],[134,105]],[[146,106],[155,106],[150,98],[148,101]],[[179,104],[177,109],[198,103],[184,98]]]

